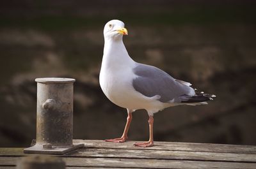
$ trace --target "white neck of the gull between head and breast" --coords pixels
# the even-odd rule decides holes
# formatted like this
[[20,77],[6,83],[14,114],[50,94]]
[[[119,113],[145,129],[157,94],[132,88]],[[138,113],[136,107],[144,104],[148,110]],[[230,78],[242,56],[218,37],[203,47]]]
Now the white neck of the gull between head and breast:
[[129,56],[122,40],[105,40],[102,66],[117,68],[131,66],[134,61]]

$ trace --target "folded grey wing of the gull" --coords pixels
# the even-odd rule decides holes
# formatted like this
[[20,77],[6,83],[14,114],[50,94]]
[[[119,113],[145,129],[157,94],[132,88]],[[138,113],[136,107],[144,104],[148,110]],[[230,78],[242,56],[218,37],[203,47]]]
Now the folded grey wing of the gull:
[[180,96],[189,95],[193,90],[154,66],[138,64],[133,71],[138,75],[138,78],[132,81],[134,89],[147,97],[159,95],[161,102],[168,102],[172,99],[180,102]]

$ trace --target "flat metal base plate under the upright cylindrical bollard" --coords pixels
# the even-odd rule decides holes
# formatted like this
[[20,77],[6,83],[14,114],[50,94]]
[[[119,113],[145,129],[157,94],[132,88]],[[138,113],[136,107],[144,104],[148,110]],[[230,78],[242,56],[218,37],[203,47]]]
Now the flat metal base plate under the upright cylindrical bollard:
[[43,149],[42,145],[34,145],[32,147],[28,147],[23,150],[24,153],[31,153],[31,154],[56,154],[56,155],[62,155],[66,154],[67,152],[74,151],[79,148],[83,148],[83,143],[75,143],[70,147],[65,148],[59,148],[59,147],[53,147],[52,149]]

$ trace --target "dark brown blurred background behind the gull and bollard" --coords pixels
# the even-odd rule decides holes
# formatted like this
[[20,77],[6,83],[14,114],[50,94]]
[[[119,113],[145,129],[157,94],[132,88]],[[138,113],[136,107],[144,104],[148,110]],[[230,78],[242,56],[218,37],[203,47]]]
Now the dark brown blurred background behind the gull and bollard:
[[[37,77],[76,78],[74,138],[122,135],[127,112],[99,86],[103,27],[125,22],[132,59],[198,91],[207,106],[157,113],[154,139],[256,145],[255,1],[2,1],[0,146],[28,147],[36,136]],[[148,140],[148,115],[133,113],[129,140]]]

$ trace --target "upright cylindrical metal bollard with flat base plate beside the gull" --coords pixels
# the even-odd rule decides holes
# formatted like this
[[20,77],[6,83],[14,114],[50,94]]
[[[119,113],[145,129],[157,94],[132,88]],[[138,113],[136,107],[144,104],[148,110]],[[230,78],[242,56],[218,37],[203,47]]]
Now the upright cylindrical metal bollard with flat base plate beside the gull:
[[84,144],[73,139],[74,78],[36,78],[36,144],[24,153],[65,154]]

